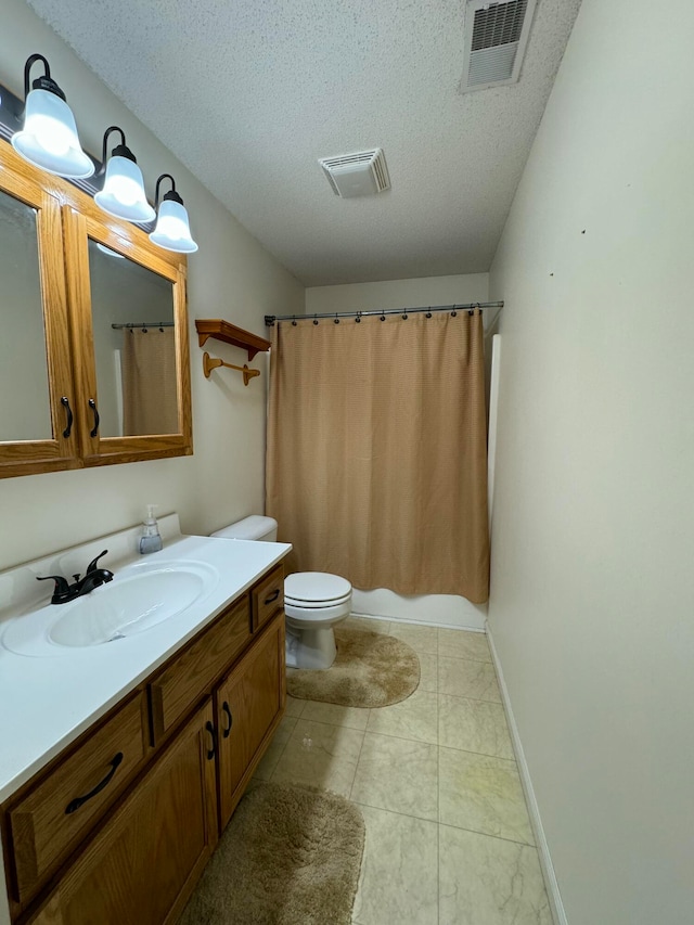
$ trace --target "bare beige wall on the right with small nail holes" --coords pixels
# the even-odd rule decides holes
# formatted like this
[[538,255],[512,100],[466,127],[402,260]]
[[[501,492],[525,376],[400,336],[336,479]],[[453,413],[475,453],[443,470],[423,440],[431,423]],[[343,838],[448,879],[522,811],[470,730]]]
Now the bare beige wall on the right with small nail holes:
[[489,624],[570,925],[694,907],[694,5],[583,0],[490,274]]

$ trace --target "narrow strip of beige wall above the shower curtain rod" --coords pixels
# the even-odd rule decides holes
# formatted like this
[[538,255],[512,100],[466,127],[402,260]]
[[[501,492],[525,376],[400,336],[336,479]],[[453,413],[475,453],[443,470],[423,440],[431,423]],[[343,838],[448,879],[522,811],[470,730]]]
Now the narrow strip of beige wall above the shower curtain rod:
[[306,313],[373,311],[380,308],[416,308],[423,305],[486,301],[488,288],[487,273],[313,286],[306,290]]

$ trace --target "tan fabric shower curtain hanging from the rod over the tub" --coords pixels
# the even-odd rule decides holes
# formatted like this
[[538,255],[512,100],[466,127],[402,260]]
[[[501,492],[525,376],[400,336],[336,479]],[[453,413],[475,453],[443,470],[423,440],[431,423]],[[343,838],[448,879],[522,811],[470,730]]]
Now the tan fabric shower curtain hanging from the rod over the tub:
[[487,600],[481,313],[277,323],[267,513],[296,570]]

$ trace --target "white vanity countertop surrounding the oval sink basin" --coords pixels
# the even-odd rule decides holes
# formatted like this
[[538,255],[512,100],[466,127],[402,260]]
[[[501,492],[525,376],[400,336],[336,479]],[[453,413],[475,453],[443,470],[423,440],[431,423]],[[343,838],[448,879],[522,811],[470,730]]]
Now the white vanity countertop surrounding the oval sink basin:
[[[131,532],[123,531],[114,537],[129,537]],[[65,568],[69,562],[81,562],[83,567],[88,557],[93,557],[92,549],[99,552],[98,548],[110,540],[112,545],[116,544],[113,537],[102,538],[76,551],[67,551],[73,554],[72,558],[67,553],[57,554],[53,560],[23,566],[22,574],[21,569],[10,569],[0,575],[0,630],[7,620],[22,619],[17,616],[22,608],[13,589],[22,584],[35,589],[35,577],[47,574],[47,563],[49,567],[56,567],[55,563],[60,562],[63,575],[69,574]],[[183,537],[180,534],[165,536],[164,542],[160,552],[146,556],[147,562],[204,562],[219,573],[216,587],[183,613],[114,644],[61,650],[55,656],[18,655],[0,645],[0,801],[107,712],[292,549],[287,543]],[[110,563],[108,557],[100,563],[115,573],[115,580],[118,565],[143,558],[132,552],[132,542],[127,549],[128,554],[117,563],[113,560]],[[39,566],[41,570],[37,570]],[[46,596],[49,589],[39,587]],[[36,590],[33,593],[36,596]]]

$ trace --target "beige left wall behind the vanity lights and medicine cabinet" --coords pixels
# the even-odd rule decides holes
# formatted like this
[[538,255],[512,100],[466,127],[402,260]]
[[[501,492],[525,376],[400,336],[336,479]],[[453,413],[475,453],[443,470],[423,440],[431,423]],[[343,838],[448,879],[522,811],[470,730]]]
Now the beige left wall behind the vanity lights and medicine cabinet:
[[[119,125],[138,157],[147,193],[171,172],[185,200],[200,252],[189,259],[193,389],[193,457],[0,480],[0,568],[40,556],[140,519],[145,503],[177,510],[189,532],[208,532],[262,510],[266,358],[264,375],[245,388],[237,373],[202,372],[194,318],[226,318],[264,334],[264,314],[303,311],[304,287],[154,138],[22,0],[4,0],[0,82],[23,93],[24,62],[44,54],[73,107],[83,145],[100,154],[108,125]],[[0,142],[4,143],[4,142]],[[233,347],[210,352],[243,363]],[[255,364],[255,363],[254,363]]]

